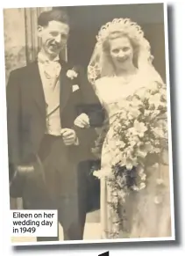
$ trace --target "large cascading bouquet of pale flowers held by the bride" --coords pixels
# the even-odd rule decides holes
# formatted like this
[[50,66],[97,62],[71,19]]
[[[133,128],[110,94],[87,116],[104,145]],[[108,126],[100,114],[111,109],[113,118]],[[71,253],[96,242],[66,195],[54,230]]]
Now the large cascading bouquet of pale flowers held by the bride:
[[116,143],[111,175],[103,169],[94,175],[107,176],[111,187],[124,200],[131,189],[146,187],[146,165],[158,168],[161,152],[167,149],[166,85],[153,82],[117,105],[120,111],[113,123],[112,139]]

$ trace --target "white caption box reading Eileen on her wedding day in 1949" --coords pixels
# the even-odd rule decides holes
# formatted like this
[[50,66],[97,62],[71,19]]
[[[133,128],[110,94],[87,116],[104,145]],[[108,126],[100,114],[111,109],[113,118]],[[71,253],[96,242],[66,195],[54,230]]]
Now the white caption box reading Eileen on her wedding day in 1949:
[[57,237],[57,210],[11,210],[11,237]]

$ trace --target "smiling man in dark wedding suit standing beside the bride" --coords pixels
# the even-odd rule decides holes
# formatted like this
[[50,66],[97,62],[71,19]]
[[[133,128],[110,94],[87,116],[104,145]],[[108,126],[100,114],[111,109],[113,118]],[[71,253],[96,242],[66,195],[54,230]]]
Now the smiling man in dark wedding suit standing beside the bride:
[[[22,197],[25,209],[58,209],[64,239],[80,240],[87,212],[90,149],[102,115],[82,69],[60,60],[68,33],[66,12],[41,13],[37,60],[11,72],[7,84],[10,194]],[[89,128],[75,126],[78,119]]]

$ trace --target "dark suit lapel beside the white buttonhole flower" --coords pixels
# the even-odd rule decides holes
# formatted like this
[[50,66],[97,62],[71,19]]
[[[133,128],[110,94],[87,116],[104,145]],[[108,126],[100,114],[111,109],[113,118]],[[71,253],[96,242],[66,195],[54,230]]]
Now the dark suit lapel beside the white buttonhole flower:
[[72,92],[72,81],[67,77],[68,67],[66,63],[61,63],[60,71],[60,112],[67,105],[68,98]]

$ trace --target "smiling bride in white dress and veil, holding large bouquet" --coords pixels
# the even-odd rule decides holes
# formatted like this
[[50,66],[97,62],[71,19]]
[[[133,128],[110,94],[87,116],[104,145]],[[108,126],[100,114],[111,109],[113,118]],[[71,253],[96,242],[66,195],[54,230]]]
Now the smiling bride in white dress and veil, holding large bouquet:
[[166,85],[143,31],[129,18],[102,26],[96,40],[88,77],[109,121],[95,172],[101,236],[170,237]]

